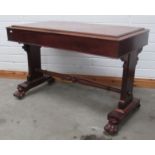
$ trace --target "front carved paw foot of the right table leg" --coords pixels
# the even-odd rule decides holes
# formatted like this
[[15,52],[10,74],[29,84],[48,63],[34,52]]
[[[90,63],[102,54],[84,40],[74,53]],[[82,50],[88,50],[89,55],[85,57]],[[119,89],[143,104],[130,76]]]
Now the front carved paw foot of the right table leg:
[[110,134],[110,135],[115,135],[118,133],[118,125],[116,124],[112,124],[112,123],[108,123],[105,127],[104,130]]

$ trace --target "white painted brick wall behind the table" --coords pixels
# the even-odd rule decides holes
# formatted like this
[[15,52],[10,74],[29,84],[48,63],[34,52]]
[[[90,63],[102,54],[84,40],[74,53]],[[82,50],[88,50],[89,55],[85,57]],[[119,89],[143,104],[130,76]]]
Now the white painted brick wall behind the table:
[[[0,16],[0,70],[27,71],[26,53],[18,43],[8,42],[6,26],[38,21],[63,20],[138,26],[150,29],[149,45],[139,56],[136,77],[155,79],[155,16]],[[42,48],[44,69],[89,75],[122,75],[122,62],[94,55]]]

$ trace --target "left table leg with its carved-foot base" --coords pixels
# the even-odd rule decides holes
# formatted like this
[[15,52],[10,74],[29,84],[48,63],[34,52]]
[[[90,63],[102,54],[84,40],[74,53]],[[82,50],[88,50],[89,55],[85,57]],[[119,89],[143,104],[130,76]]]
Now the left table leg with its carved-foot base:
[[24,45],[23,49],[27,53],[28,59],[28,76],[27,81],[17,86],[17,91],[14,96],[21,99],[25,96],[26,92],[45,81],[54,82],[54,79],[46,74],[39,72],[41,70],[41,55],[40,47],[35,45]]

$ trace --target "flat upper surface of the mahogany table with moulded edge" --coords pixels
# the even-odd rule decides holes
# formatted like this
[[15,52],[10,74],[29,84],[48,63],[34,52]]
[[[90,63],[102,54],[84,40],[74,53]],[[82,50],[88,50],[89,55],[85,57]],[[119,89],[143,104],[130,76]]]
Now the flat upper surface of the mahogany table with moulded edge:
[[60,21],[13,25],[11,28],[109,40],[120,40],[145,31],[144,28],[138,27]]

